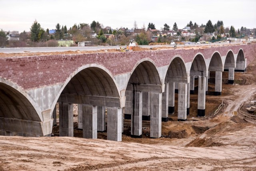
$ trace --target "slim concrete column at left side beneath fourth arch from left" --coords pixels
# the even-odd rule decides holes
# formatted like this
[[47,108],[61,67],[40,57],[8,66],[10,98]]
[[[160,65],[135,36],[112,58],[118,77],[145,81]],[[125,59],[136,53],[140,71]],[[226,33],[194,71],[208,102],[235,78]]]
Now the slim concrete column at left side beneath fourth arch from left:
[[164,93],[162,93],[162,122],[169,121],[168,105],[169,105],[169,82],[166,82],[164,87]]

